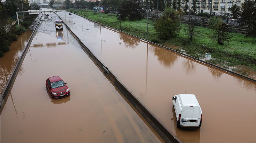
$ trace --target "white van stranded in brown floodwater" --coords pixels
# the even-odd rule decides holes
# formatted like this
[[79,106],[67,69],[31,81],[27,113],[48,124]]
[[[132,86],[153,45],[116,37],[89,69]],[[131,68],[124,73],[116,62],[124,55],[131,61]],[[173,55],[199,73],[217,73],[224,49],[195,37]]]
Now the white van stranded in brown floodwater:
[[178,128],[200,128],[202,110],[194,94],[178,94],[172,97]]

